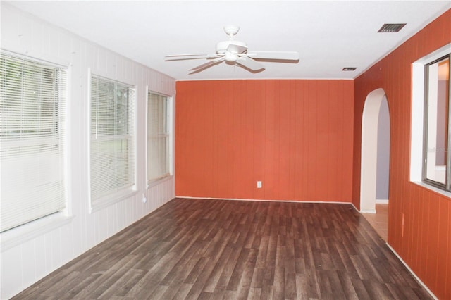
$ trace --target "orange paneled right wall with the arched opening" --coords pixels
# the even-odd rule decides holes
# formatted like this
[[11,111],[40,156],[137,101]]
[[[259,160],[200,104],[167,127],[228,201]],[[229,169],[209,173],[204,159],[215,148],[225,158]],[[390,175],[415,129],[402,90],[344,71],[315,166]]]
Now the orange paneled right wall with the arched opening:
[[[451,299],[451,199],[409,182],[412,63],[451,42],[451,11],[373,65],[355,81],[354,185],[359,207],[362,112],[369,92],[382,87],[390,108],[388,243],[438,296]],[[404,230],[402,227],[404,214]]]

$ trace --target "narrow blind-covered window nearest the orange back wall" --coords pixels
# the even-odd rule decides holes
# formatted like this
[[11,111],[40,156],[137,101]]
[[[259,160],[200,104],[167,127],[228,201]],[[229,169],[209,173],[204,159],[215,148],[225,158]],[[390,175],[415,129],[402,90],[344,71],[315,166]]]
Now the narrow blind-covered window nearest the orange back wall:
[[171,174],[169,98],[161,94],[147,94],[147,182],[154,182]]

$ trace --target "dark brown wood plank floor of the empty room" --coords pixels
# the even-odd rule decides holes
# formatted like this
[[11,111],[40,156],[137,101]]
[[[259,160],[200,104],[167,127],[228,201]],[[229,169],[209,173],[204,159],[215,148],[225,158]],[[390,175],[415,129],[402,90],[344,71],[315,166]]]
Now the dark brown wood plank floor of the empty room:
[[431,299],[350,204],[173,199],[13,299]]

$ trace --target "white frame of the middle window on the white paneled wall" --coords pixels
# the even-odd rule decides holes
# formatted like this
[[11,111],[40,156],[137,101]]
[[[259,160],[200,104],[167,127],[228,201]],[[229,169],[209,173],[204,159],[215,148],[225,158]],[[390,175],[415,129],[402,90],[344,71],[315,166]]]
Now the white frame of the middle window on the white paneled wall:
[[[130,91],[133,92],[134,96],[133,99],[130,99],[128,97],[128,118],[132,118],[132,120],[128,120],[128,124],[130,125],[130,130],[132,130],[131,136],[127,138],[129,142],[132,143],[132,152],[129,153],[128,161],[129,163],[132,163],[132,171],[130,171],[130,175],[132,176],[132,183],[130,186],[125,187],[123,189],[119,189],[113,192],[110,192],[108,194],[104,194],[102,196],[99,196],[96,199],[93,199],[92,197],[92,132],[91,132],[91,123],[92,123],[92,116],[91,116],[91,105],[92,105],[92,77],[97,77],[101,80],[107,80],[108,82],[114,82],[115,84],[122,85],[128,87],[130,96]],[[138,185],[138,177],[137,177],[137,86],[130,84],[128,82],[123,82],[119,80],[114,80],[112,78],[98,75],[97,73],[92,73],[91,69],[88,68],[88,105],[87,105],[87,169],[88,169],[88,198],[89,198],[89,213],[94,213],[95,211],[99,211],[102,208],[106,208],[108,206],[111,206],[112,204],[117,203],[118,201],[122,201],[124,199],[128,199],[132,196],[135,196],[138,192],[137,185]],[[131,105],[130,105],[131,104]],[[106,140],[124,140],[120,139],[120,137],[125,137],[127,135],[113,135],[111,138],[102,137],[102,142]],[[131,161],[131,162],[130,162]]]

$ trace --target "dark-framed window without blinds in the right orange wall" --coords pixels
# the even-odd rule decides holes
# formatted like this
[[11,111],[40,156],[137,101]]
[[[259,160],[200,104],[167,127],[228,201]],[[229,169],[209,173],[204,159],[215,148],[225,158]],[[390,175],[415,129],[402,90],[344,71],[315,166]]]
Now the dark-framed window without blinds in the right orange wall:
[[451,190],[450,54],[425,65],[424,182]]

